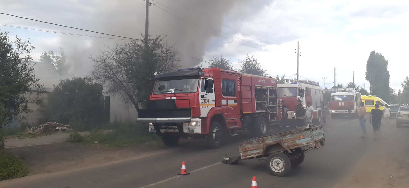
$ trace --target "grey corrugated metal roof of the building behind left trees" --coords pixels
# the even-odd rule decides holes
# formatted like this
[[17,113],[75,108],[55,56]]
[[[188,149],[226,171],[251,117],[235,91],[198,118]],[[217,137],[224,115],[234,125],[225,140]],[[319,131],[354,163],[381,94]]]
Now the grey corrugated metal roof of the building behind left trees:
[[43,62],[36,62],[31,61],[31,63],[35,63],[34,65],[34,74],[36,79],[40,79],[38,83],[43,84],[44,88],[47,91],[54,90],[54,84],[58,84],[60,82],[60,74],[58,74],[57,69],[51,63],[43,63]]

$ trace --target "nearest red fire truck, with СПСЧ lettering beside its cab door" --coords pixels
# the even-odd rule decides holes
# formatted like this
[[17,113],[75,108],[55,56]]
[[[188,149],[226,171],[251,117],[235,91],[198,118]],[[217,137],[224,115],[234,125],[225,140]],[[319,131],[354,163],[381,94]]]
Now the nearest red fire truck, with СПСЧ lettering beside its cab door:
[[155,75],[148,101],[138,101],[138,122],[173,146],[180,137],[218,147],[237,130],[264,135],[279,121],[277,82],[219,68],[188,68]]

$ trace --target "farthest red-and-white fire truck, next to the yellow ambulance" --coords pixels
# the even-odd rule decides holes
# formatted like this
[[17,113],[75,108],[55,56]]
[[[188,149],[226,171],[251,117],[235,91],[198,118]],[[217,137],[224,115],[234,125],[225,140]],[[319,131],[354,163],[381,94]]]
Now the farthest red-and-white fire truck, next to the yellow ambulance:
[[341,89],[331,93],[330,114],[331,118],[348,116],[358,117],[361,93],[354,89]]

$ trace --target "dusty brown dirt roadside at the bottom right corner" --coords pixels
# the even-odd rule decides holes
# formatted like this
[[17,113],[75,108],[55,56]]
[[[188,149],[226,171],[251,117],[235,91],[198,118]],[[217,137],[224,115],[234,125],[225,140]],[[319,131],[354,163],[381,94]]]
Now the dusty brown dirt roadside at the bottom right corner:
[[[389,126],[389,127],[387,127]],[[372,127],[366,142],[369,151],[336,188],[400,188],[409,184],[409,127],[382,125],[380,139],[374,140]],[[382,131],[383,128],[383,131]],[[364,139],[364,138],[363,138]]]

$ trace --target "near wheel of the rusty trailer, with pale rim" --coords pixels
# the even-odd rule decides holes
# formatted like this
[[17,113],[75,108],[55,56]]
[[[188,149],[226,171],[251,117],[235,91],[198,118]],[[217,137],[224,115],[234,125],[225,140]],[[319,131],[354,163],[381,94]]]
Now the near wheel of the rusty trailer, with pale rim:
[[291,171],[291,161],[284,153],[273,152],[267,157],[267,168],[274,176],[285,176]]

